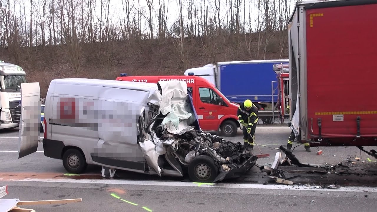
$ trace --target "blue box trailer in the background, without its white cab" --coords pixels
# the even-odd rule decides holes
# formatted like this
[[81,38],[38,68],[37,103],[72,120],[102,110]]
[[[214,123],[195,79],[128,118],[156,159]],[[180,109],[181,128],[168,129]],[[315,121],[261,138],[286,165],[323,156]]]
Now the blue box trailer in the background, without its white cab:
[[[277,80],[274,64],[288,63],[288,60],[251,60],[220,62],[218,68],[218,89],[230,101],[240,103],[247,99],[253,102],[272,103],[271,81]],[[274,88],[277,83],[274,83]],[[278,91],[274,89],[274,103]]]

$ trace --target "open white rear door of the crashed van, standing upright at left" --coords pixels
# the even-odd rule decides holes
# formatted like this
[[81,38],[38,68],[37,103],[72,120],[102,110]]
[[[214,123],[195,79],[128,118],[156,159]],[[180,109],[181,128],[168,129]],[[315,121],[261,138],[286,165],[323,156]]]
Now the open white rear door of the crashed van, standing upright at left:
[[21,83],[21,117],[18,137],[18,158],[37,151],[41,120],[39,83]]

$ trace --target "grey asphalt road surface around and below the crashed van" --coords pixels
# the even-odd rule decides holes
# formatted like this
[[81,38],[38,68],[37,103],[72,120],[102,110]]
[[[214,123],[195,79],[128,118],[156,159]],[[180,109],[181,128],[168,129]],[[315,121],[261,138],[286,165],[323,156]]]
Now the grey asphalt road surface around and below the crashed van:
[[[116,172],[115,179],[103,179],[101,169],[89,166],[80,176],[64,175],[60,160],[44,157],[40,143],[38,152],[18,159],[18,130],[0,132],[0,186],[9,185],[9,195],[4,198],[20,198],[21,201],[82,198],[81,203],[25,206],[38,211],[373,211],[377,206],[376,159],[356,147],[322,147],[306,152],[303,145],[293,153],[301,163],[344,163],[345,173],[297,174],[287,173],[295,186],[275,183],[259,170],[263,164],[271,164],[280,145],[286,145],[290,135],[288,127],[258,126],[256,143],[263,154],[257,165],[245,176],[216,184],[196,184],[187,179],[160,178],[155,176]],[[242,132],[227,140],[242,142]],[[368,149],[368,148],[366,148]],[[260,154],[254,147],[254,154]],[[335,156],[334,156],[335,155]],[[360,161],[355,157],[362,158]],[[354,161],[353,163],[348,163]],[[365,162],[363,162],[364,160]],[[327,163],[327,164],[326,164]],[[344,171],[344,170],[343,170]],[[305,184],[310,183],[308,187]],[[314,186],[336,183],[338,189],[317,189]],[[351,187],[350,187],[351,186]],[[368,187],[366,187],[368,186]],[[111,196],[110,194],[114,194]],[[116,198],[119,197],[119,198]],[[346,201],[345,201],[346,200]],[[135,205],[137,204],[137,206]],[[143,208],[143,206],[145,208]]]

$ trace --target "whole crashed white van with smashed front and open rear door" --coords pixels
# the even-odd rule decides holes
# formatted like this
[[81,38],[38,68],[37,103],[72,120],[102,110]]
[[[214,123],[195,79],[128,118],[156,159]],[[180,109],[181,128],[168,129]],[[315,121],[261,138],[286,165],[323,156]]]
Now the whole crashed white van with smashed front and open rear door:
[[[20,124],[24,157],[37,150],[39,84],[21,84],[21,98],[21,116],[28,117]],[[257,160],[241,143],[201,131],[183,81],[58,79],[45,104],[44,155],[63,160],[70,173],[97,164],[159,176],[187,172],[192,181],[215,182],[247,172]],[[24,105],[35,105],[34,111]]]

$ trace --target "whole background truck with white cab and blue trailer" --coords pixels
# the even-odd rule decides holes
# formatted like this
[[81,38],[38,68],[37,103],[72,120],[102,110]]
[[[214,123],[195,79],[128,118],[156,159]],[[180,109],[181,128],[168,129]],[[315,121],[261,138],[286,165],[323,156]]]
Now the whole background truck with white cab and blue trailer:
[[288,59],[219,62],[187,69],[184,75],[204,77],[234,103],[250,99],[258,107],[259,117],[278,117],[278,83],[271,86],[271,81],[277,81],[274,65],[288,62]]

